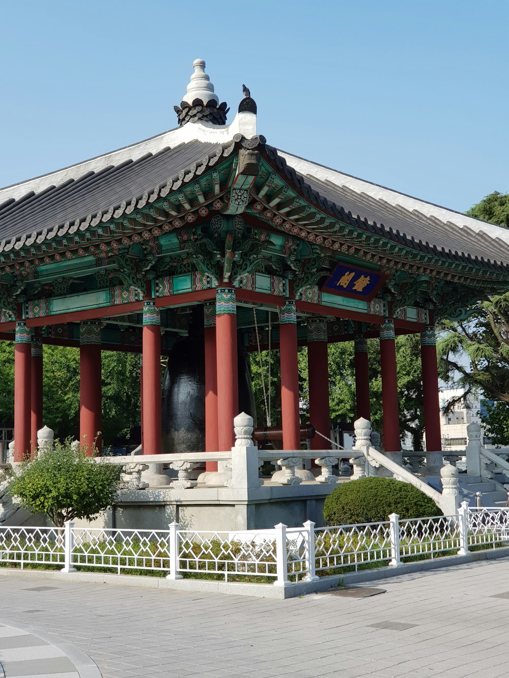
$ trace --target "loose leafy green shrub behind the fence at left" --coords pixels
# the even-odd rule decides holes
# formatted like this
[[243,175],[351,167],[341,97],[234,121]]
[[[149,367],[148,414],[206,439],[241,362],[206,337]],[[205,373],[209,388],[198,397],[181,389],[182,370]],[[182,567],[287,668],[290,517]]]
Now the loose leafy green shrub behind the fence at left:
[[56,441],[54,450],[43,450],[22,463],[9,486],[11,496],[31,513],[43,513],[54,525],[81,518],[92,520],[115,500],[121,466],[98,463],[82,447],[75,452],[70,439]]

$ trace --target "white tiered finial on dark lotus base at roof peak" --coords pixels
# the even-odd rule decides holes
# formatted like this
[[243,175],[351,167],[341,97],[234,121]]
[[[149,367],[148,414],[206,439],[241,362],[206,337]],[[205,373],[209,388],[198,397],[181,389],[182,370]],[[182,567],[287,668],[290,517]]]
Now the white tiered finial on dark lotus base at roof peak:
[[191,75],[187,94],[181,102],[181,107],[174,106],[178,125],[185,123],[210,122],[214,125],[225,125],[226,114],[229,111],[226,102],[219,104],[219,98],[214,94],[214,85],[205,73],[203,59],[193,61],[194,73]]

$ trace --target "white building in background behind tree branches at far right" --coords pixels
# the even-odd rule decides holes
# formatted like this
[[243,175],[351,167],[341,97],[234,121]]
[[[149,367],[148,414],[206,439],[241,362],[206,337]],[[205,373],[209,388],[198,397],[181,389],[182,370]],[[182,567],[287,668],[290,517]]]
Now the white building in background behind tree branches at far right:
[[[464,395],[463,388],[441,388],[440,389],[440,409],[447,404],[451,398],[457,398]],[[455,406],[453,412],[450,414],[442,414],[440,412],[440,433],[442,435],[442,450],[464,450],[467,444],[466,427],[471,422],[476,424],[483,423],[480,420],[479,412],[485,412],[484,398],[480,398],[477,394],[470,394],[466,402],[461,401]],[[481,441],[486,447],[493,447],[487,437],[485,437],[484,430]]]

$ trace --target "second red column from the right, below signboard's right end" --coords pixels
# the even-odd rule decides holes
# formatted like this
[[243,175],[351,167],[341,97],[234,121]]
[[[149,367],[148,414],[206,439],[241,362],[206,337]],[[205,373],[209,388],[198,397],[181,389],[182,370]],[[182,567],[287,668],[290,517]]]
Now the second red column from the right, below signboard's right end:
[[385,453],[400,452],[396,337],[392,319],[386,319],[380,328],[380,363]]

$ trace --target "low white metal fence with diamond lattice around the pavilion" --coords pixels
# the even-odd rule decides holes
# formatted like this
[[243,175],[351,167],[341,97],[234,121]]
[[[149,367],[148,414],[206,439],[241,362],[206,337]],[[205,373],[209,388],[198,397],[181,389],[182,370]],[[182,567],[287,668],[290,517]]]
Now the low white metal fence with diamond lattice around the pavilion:
[[199,532],[75,527],[0,527],[0,567],[62,572],[159,574],[170,579],[273,582],[288,586],[373,565],[464,554],[509,542],[509,509],[469,509],[456,516],[363,525]]

